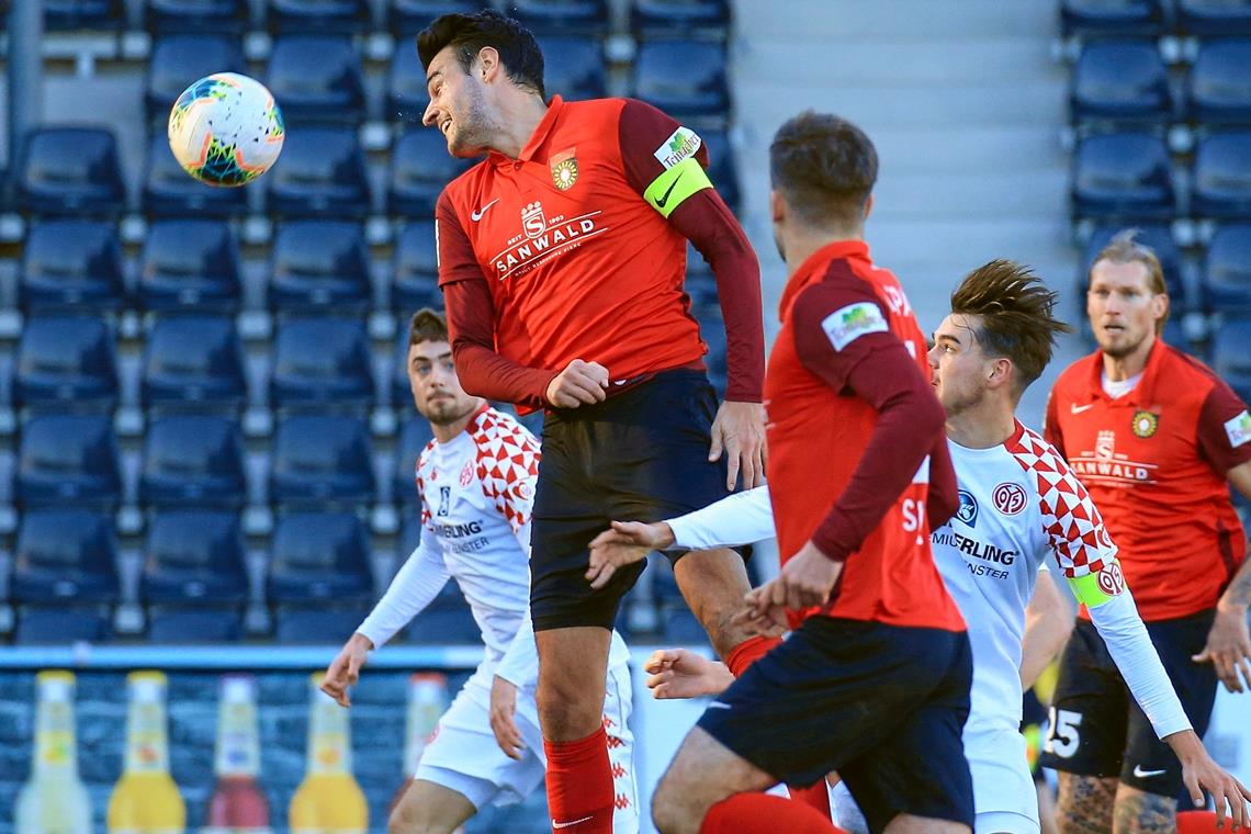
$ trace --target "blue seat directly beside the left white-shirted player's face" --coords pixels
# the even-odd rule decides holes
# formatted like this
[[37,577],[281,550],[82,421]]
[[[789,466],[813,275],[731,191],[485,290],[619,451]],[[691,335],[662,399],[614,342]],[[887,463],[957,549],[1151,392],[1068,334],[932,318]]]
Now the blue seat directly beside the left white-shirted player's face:
[[355,319],[284,321],[274,345],[269,401],[280,409],[363,413],[374,399],[365,326]]

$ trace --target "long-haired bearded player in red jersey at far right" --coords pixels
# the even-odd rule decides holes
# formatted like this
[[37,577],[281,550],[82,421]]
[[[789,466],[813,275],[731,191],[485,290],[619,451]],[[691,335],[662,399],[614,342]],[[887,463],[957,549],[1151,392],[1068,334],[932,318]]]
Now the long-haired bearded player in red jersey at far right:
[[[1202,735],[1217,679],[1251,686],[1251,560],[1230,485],[1251,496],[1251,416],[1228,385],[1160,339],[1168,294],[1151,249],[1118,235],[1091,266],[1098,350],[1051,391],[1046,438],[1121,548],[1125,579]],[[1241,680],[1240,680],[1241,671]],[[1127,698],[1086,613],[1061,660],[1042,764],[1060,771],[1062,831],[1171,831],[1173,751]]]

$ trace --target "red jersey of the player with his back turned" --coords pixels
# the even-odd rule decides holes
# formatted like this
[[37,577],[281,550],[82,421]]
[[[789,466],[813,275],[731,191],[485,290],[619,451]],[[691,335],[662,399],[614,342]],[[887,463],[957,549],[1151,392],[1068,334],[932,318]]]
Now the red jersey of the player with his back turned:
[[[893,378],[886,383],[893,388],[876,404],[862,389],[882,376]],[[766,375],[769,493],[783,563],[809,539],[827,555],[847,556],[833,601],[819,613],[965,630],[929,550],[924,455],[946,455],[946,439],[928,380],[926,339],[903,289],[873,266],[863,243],[828,245],[791,278]],[[911,453],[891,460],[892,450],[873,441],[901,391],[918,399],[898,415],[903,431],[889,445]],[[952,480],[943,489],[953,494],[943,469]],[[857,481],[891,486],[884,499],[866,498]],[[832,528],[843,531],[823,535]]]

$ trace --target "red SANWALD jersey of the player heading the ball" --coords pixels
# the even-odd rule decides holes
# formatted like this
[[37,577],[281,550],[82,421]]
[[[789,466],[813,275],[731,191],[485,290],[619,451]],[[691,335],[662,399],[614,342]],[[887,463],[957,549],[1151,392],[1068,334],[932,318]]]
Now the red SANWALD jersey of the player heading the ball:
[[574,359],[615,386],[699,366],[687,239],[721,289],[726,398],[759,401],[759,268],[697,134],[628,99],[552,100],[518,159],[492,153],[439,198],[439,284],[465,389],[540,408]]

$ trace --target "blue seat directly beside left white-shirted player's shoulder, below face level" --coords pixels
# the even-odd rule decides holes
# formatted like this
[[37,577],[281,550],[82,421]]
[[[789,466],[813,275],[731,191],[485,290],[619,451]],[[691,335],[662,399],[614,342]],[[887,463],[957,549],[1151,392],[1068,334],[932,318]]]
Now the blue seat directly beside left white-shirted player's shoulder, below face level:
[[374,500],[365,424],[347,415],[294,415],[278,424],[270,500],[283,505]]

